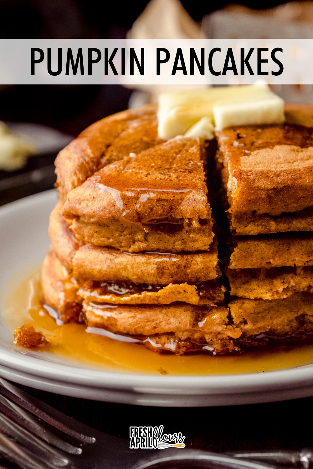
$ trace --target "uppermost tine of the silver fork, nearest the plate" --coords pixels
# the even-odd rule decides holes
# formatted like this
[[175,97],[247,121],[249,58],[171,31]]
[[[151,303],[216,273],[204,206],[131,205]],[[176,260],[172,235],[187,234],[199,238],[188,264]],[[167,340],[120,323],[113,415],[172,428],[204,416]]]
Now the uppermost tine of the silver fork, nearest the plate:
[[96,441],[95,438],[88,437],[87,435],[83,435],[82,433],[79,433],[78,431],[69,428],[67,425],[62,424],[58,420],[54,419],[52,416],[46,414],[46,412],[37,408],[36,405],[32,403],[31,396],[24,393],[21,389],[13,386],[11,383],[8,383],[8,381],[2,378],[0,378],[0,393],[4,394],[11,401],[14,401],[19,406],[28,410],[32,414],[39,417],[41,420],[44,420],[47,424],[62,431],[66,435],[69,435],[72,438],[75,438],[84,443],[94,443]]

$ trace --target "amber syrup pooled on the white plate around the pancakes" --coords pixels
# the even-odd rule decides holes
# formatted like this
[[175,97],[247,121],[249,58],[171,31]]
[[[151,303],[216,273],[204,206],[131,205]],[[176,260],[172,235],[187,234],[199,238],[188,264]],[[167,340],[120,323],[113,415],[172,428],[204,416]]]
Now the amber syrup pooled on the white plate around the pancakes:
[[160,375],[234,375],[294,368],[313,363],[313,345],[244,352],[241,355],[159,355],[142,345],[86,333],[85,325],[57,325],[43,306],[41,268],[31,272],[17,287],[7,288],[2,320],[14,331],[31,324],[49,340],[48,351],[64,360],[107,371]]

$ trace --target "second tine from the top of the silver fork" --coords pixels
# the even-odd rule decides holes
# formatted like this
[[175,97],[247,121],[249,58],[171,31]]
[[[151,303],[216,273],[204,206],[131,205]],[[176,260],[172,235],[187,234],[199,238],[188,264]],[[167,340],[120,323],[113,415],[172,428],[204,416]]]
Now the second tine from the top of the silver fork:
[[69,454],[82,454],[82,448],[61,440],[53,433],[45,428],[45,426],[36,417],[33,417],[27,410],[19,407],[7,397],[0,394],[0,410],[14,420],[17,424],[21,424],[38,437],[44,439],[47,443],[56,446]]

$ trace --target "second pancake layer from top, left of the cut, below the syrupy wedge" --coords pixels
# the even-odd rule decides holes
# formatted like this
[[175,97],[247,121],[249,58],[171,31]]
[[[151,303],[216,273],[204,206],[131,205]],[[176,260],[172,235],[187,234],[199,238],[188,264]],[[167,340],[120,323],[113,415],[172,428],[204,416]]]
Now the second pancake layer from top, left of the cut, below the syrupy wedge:
[[129,254],[86,244],[76,251],[72,264],[77,279],[110,282],[167,285],[213,280],[220,276],[216,244],[209,252],[190,254]]

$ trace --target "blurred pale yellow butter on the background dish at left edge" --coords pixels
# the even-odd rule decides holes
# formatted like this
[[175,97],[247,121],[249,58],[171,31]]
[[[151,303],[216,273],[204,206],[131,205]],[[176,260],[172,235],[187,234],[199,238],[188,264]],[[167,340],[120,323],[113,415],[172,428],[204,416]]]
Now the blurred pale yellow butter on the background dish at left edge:
[[34,153],[35,148],[27,137],[11,133],[6,124],[0,121],[0,169],[18,169]]

